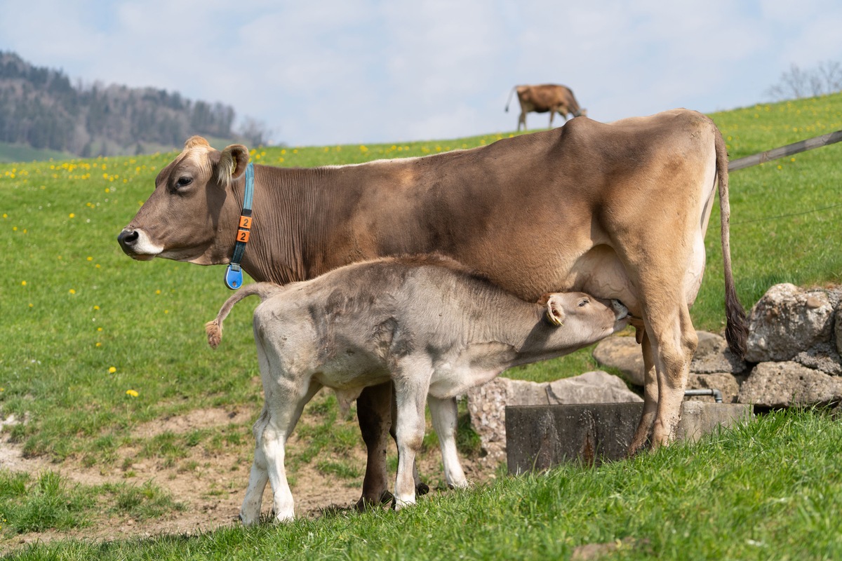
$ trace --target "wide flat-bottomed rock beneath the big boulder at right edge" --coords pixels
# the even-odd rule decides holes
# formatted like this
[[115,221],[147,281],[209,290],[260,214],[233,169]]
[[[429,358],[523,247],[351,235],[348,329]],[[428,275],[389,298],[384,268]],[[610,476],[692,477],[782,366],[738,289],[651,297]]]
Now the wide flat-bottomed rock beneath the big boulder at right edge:
[[738,401],[761,407],[821,405],[842,400],[842,378],[791,361],[759,363],[740,388]]

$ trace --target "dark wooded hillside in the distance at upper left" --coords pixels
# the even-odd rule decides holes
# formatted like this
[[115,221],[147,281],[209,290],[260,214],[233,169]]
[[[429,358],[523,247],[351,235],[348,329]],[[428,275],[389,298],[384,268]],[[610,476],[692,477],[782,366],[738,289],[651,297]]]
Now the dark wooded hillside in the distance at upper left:
[[140,154],[180,147],[191,135],[264,144],[254,119],[233,130],[234,109],[152,87],[73,85],[61,71],[0,51],[0,142],[77,156]]

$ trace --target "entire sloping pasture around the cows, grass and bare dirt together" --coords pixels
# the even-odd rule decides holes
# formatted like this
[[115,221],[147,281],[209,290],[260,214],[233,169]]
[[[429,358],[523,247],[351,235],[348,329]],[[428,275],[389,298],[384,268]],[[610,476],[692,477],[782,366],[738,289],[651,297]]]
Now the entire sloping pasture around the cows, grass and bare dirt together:
[[[712,117],[737,158],[842,129],[842,94]],[[502,136],[267,147],[252,157],[310,167]],[[320,511],[349,505],[363,468],[353,412],[340,415],[326,394],[308,407],[288,460],[304,514],[322,516],[237,527],[261,405],[251,309],[234,310],[211,352],[202,325],[227,296],[222,268],[131,262],[115,241],[173,156],[0,164],[0,550],[9,558],[581,558],[585,544],[610,558],[842,557],[842,428],[816,410],[525,478],[479,468],[476,440],[463,430],[475,490],[357,515]],[[731,176],[743,304],[774,283],[842,282],[840,156],[842,146],[829,146]],[[718,245],[707,236],[692,310],[710,331],[724,322]],[[579,352],[508,375],[545,380],[593,365]],[[424,474],[435,485],[434,436],[427,445]]]

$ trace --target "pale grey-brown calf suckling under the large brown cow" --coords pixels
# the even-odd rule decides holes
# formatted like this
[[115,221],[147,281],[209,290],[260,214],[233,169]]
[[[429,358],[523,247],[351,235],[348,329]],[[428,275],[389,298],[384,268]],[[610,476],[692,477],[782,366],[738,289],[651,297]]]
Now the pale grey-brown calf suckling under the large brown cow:
[[262,300],[253,325],[265,401],[240,511],[247,525],[259,519],[267,479],[275,520],[295,516],[286,441],[322,387],[355,399],[366,386],[394,383],[401,509],[415,503],[413,466],[428,397],[447,483],[466,487],[456,454],[456,395],[505,368],[586,347],[629,321],[616,300],[564,293],[530,304],[452,259],[430,255],[354,263],[286,286],[249,284],[205,325],[211,347],[219,345],[234,304],[252,294]]

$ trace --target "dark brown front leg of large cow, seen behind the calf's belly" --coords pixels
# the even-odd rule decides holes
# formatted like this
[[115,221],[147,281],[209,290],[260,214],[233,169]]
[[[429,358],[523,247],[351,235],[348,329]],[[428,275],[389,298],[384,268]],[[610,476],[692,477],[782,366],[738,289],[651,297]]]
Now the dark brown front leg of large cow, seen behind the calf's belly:
[[357,421],[367,453],[363,492],[357,501],[361,511],[392,501],[386,468],[386,447],[392,428],[392,382],[363,389],[357,398]]

